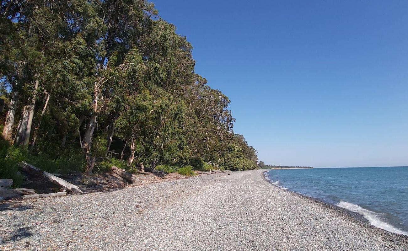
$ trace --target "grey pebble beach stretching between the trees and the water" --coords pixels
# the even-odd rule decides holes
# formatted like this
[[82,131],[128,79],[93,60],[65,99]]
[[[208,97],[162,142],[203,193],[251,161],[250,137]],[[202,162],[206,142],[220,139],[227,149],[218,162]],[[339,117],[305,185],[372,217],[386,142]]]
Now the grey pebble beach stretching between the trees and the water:
[[263,170],[0,204],[0,250],[408,250]]

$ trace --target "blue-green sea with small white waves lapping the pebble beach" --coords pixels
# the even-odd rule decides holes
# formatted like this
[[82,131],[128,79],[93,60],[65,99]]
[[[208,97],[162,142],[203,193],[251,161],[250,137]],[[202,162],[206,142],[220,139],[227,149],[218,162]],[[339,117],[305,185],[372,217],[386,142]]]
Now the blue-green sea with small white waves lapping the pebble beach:
[[408,235],[408,167],[268,170],[272,184],[359,213],[375,227]]

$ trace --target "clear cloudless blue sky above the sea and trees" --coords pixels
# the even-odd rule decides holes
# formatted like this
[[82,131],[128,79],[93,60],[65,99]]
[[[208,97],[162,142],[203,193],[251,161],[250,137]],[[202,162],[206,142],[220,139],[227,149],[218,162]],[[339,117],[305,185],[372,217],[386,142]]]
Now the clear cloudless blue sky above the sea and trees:
[[153,2],[259,160],[408,165],[408,1]]

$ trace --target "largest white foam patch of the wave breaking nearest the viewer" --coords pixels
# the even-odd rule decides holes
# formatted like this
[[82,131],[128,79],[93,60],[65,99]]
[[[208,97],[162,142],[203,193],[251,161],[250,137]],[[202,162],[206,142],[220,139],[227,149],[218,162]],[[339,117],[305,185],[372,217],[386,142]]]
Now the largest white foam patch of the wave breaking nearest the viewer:
[[390,231],[392,233],[408,235],[407,232],[396,229],[394,226],[388,224],[387,222],[384,222],[384,220],[382,220],[379,217],[379,215],[377,215],[377,213],[375,213],[373,211],[370,211],[370,210],[367,210],[367,209],[364,209],[364,208],[360,207],[359,205],[356,205],[356,204],[353,204],[353,203],[350,203],[350,202],[340,201],[340,203],[337,204],[337,206],[342,207],[344,209],[347,209],[349,211],[352,211],[352,212],[359,213],[359,214],[363,215],[364,218],[366,218],[366,220],[368,220],[368,222],[370,222],[370,224],[372,224],[375,227]]

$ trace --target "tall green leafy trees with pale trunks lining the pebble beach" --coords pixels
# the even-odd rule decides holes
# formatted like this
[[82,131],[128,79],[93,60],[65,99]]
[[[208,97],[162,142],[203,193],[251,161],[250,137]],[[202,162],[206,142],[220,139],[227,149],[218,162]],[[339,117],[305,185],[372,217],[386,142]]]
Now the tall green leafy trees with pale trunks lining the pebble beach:
[[152,3],[2,0],[0,14],[2,137],[14,147],[54,163],[82,156],[73,162],[89,174],[113,158],[257,168],[230,100],[195,73],[192,45]]

